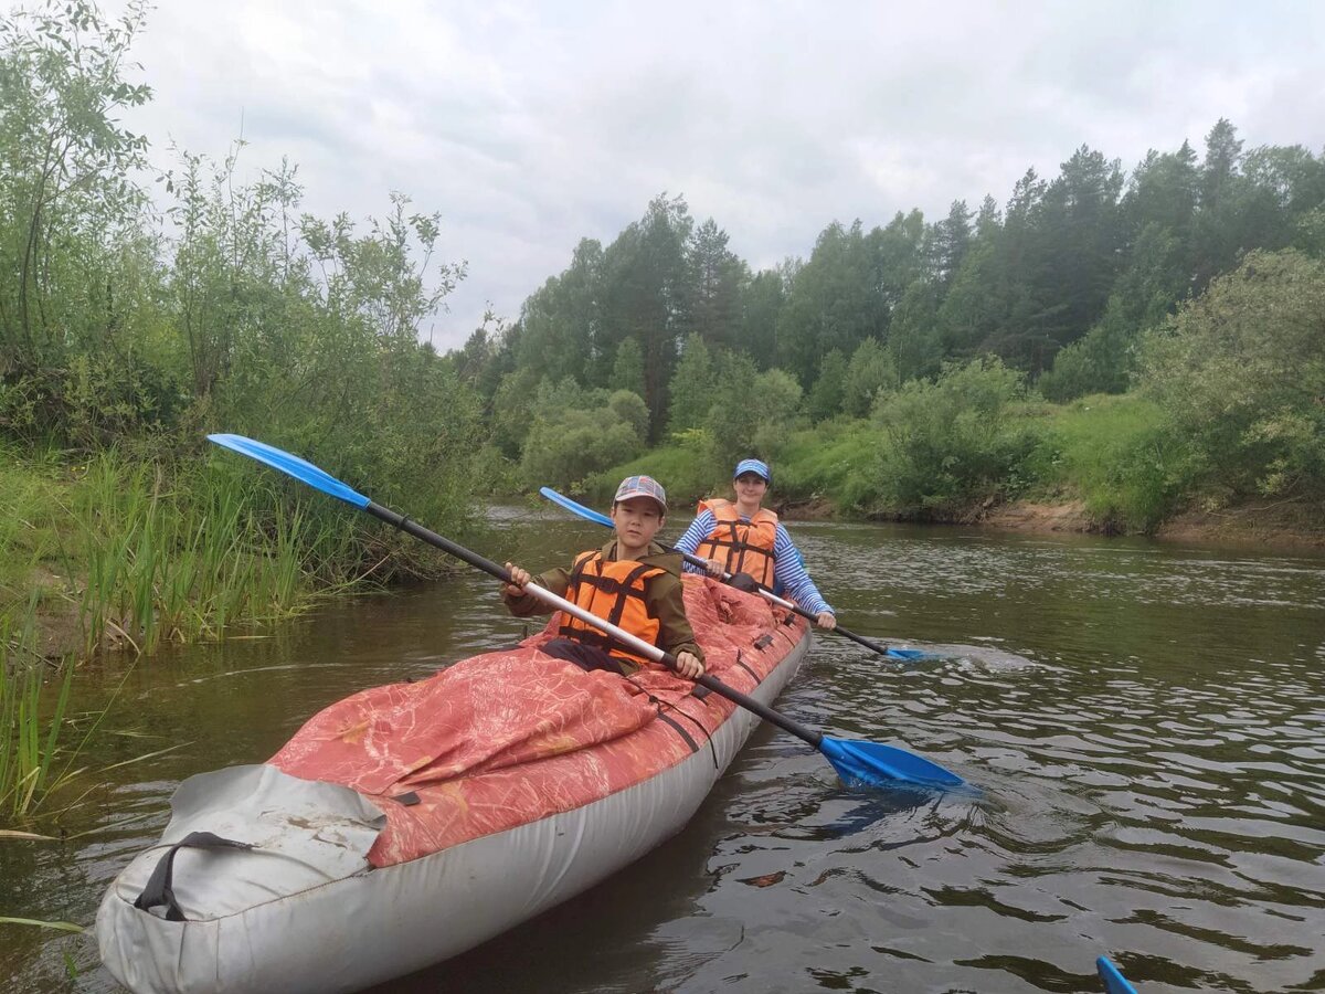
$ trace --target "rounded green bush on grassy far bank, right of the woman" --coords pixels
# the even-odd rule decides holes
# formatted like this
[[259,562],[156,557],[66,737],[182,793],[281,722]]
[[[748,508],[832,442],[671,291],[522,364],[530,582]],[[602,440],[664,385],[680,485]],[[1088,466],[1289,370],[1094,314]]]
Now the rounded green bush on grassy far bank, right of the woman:
[[1034,445],[1034,435],[1008,419],[1020,392],[1020,374],[992,359],[880,395],[873,420],[886,437],[874,465],[882,506],[946,517],[1015,489],[1014,473]]

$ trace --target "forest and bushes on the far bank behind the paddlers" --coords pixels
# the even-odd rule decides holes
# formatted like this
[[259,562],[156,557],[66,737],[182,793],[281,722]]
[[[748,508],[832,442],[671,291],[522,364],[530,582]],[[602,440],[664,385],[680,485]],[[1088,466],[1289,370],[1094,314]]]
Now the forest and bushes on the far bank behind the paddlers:
[[[1149,530],[1196,500],[1321,500],[1322,250],[1325,156],[1220,119],[1199,152],[1124,170],[1083,146],[1006,203],[833,221],[758,272],[659,196],[456,359],[527,488],[653,465],[689,494],[755,452],[791,457],[784,497],[841,509],[951,520],[1039,489]],[[1064,407],[1101,394],[1126,399],[1093,428]]]

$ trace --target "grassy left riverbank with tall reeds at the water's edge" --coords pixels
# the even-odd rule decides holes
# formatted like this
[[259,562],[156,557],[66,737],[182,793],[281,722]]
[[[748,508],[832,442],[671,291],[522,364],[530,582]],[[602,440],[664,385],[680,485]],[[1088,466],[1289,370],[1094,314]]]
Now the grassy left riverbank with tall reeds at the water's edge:
[[68,785],[82,663],[146,659],[452,569],[238,460],[0,449],[0,826]]

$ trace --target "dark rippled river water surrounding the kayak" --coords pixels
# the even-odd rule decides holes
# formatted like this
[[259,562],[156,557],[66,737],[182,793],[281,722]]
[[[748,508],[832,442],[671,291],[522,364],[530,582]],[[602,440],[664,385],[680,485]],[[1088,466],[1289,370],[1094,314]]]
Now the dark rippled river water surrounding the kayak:
[[[496,509],[480,550],[541,569],[604,535]],[[1325,558],[819,522],[794,535],[853,631],[954,648],[897,667],[819,637],[778,706],[922,753],[979,795],[849,791],[763,728],[651,856],[380,990],[1093,991],[1101,953],[1142,994],[1325,990]],[[496,583],[466,574],[91,667],[77,705],[110,709],[82,782],[105,786],[40,823],[66,840],[0,842],[0,916],[90,922],[183,778],[260,762],[331,701],[522,631]],[[118,990],[90,938],[8,925],[0,989]]]

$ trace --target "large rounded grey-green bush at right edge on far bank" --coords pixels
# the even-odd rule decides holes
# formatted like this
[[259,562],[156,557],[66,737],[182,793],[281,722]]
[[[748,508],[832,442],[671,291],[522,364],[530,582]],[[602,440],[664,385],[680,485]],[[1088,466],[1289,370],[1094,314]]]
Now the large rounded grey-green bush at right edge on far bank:
[[1142,376],[1215,493],[1325,493],[1325,261],[1248,254],[1147,337]]

